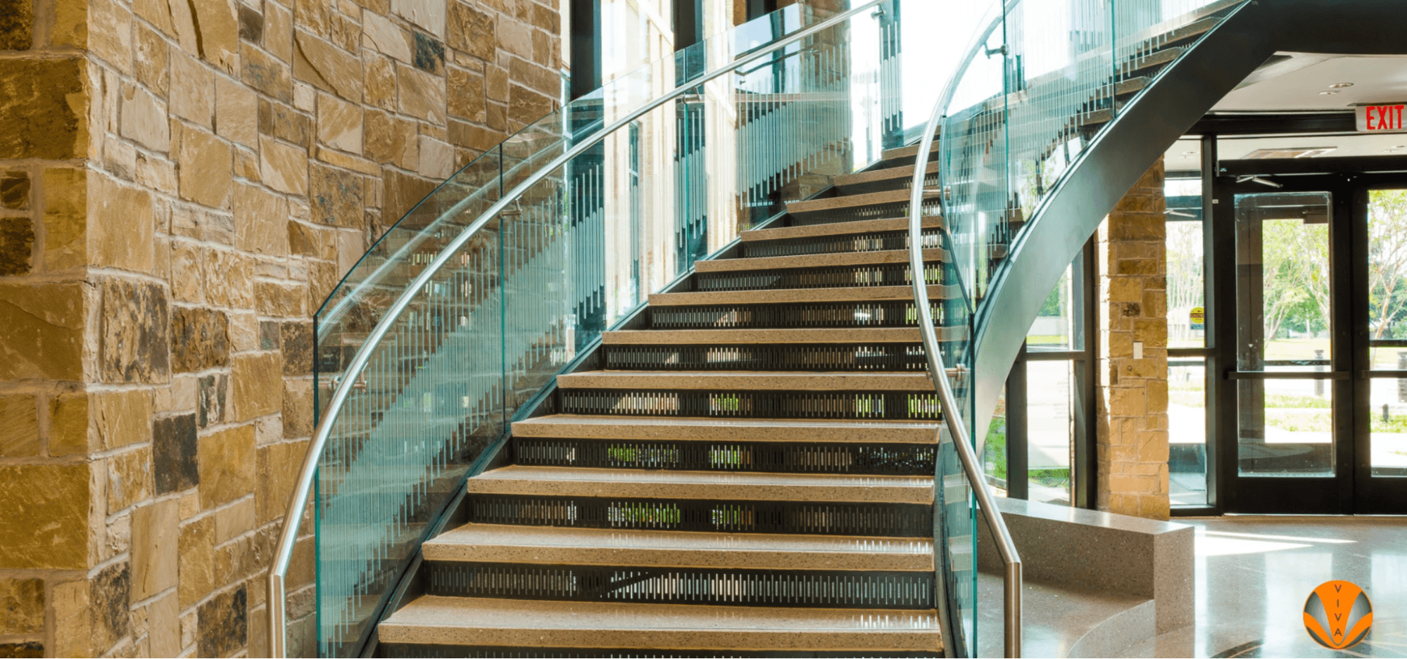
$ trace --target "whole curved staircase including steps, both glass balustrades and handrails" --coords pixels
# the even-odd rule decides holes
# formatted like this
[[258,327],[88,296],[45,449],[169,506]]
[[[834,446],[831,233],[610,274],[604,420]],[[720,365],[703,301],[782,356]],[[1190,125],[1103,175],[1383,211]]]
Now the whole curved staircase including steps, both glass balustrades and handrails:
[[[971,495],[985,485],[951,438],[938,443],[948,419],[913,277],[926,285],[937,348],[955,367],[944,375],[957,407],[975,409],[954,417],[955,431],[981,443],[991,392],[1010,365],[998,353],[1020,346],[1023,315],[1034,318],[1045,298],[1002,298],[1012,273],[1033,263],[1013,259],[1020,242],[1050,219],[1051,200],[1127,190],[1061,185],[1112,122],[1140,110],[1138,94],[1159,91],[1159,70],[1242,6],[1164,0],[1192,13],[1142,21],[1140,1],[1110,3],[1133,10],[1119,14],[1123,41],[1086,35],[1069,63],[1040,76],[1024,77],[1031,60],[1020,55],[1038,44],[1019,41],[1036,25],[1013,27],[1017,41],[1000,48],[978,39],[974,56],[999,55],[1006,69],[962,65],[954,84],[968,84],[971,69],[968,87],[982,90],[992,80],[981,77],[998,72],[996,91],[969,93],[974,105],[944,107],[941,126],[919,126],[941,128],[943,146],[926,155],[923,184],[934,193],[916,230],[920,148],[878,146],[912,126],[899,114],[855,111],[902,105],[893,84],[903,32],[888,0],[813,17],[815,32],[795,32],[805,39],[716,53],[708,60],[732,62],[720,72],[729,77],[708,87],[691,79],[699,86],[658,97],[663,105],[629,89],[602,93],[525,131],[553,138],[523,148],[526,159],[501,145],[442,185],[319,312],[318,372],[357,375],[332,382],[329,420],[287,517],[301,518],[317,474],[318,649],[971,656]],[[1106,30],[1103,18],[1089,25]],[[1009,20],[1020,27],[1016,10]],[[870,37],[853,38],[861,30]],[[857,55],[851,44],[879,53]],[[875,55],[877,67],[851,70]],[[792,70],[788,58],[799,62],[795,74],[781,74]],[[772,114],[743,111],[749,104]],[[580,111],[615,124],[584,129]],[[658,128],[680,117],[764,114],[777,121],[709,124],[687,145],[650,142],[670,139]],[[878,117],[884,133],[862,115]],[[651,160],[660,171],[640,176],[642,150],[671,146],[673,164]],[[505,162],[532,166],[509,171]],[[736,171],[705,171],[718,163]],[[872,164],[854,171],[857,163]],[[668,176],[671,167],[689,174]],[[830,185],[739,230],[815,180]],[[1090,230],[1061,240],[1078,246]],[[1045,236],[1043,250],[1054,244]],[[922,273],[910,268],[915,240]],[[1036,259],[1050,273],[1017,273],[1021,285],[1050,289],[1069,263],[1057,256]],[[647,305],[635,306],[644,295]],[[993,327],[1010,336],[993,337]],[[297,534],[294,521],[270,572],[276,656]],[[1005,618],[1009,652],[1019,652],[1019,621]]]

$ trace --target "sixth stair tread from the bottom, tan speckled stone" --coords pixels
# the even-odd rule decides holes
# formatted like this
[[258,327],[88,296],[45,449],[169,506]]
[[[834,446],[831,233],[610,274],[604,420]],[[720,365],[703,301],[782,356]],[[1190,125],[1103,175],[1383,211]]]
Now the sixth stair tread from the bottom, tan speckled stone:
[[[934,327],[940,341],[967,336],[967,327]],[[750,327],[602,332],[606,346],[706,346],[720,343],[920,343],[919,327]]]

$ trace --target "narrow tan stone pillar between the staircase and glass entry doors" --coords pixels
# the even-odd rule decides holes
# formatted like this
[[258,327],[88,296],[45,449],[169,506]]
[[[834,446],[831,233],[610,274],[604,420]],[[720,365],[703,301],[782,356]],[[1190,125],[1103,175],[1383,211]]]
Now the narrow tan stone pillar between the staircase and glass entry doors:
[[[1168,259],[1162,160],[1099,229],[1097,506],[1168,518]],[[1135,358],[1135,343],[1141,358]]]

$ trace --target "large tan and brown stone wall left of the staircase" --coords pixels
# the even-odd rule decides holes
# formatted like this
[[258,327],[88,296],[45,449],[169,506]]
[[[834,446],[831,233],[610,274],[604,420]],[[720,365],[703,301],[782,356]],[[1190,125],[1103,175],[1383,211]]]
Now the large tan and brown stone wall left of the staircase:
[[556,107],[559,32],[556,0],[0,0],[0,656],[267,653],[311,315]]

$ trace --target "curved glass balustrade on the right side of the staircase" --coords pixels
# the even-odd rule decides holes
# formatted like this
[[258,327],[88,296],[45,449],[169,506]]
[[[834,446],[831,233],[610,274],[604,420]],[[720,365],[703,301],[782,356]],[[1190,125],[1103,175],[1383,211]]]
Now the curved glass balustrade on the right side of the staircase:
[[[1164,66],[1241,4],[1242,0],[1009,0],[992,4],[989,21],[920,132],[941,135],[933,152],[940,187],[931,188],[929,197],[943,200],[957,284],[961,284],[958,288],[975,323],[999,323],[1012,316],[986,305],[989,287],[1002,268],[1012,267],[1020,254],[1023,230],[1043,219],[1043,202],[1081,164],[1081,156],[1104,126],[1157,81]],[[927,163],[929,150],[920,148],[916,184],[927,176],[919,174],[927,171]],[[922,195],[915,194],[913,218],[919,216],[922,202]],[[916,225],[910,228],[910,239],[917,230]],[[916,287],[915,292],[926,296],[923,287]],[[1031,299],[1040,304],[1044,298],[1041,294]],[[927,305],[920,301],[917,306]],[[944,365],[972,372],[975,350],[988,348],[972,343],[981,340],[983,329],[976,325],[968,340],[941,346],[941,360],[930,365],[934,379],[944,378]],[[936,344],[927,339],[927,347],[933,348]],[[975,653],[978,644],[976,587],[971,579],[976,517],[972,499],[981,495],[983,486],[978,481],[985,478],[975,455],[982,454],[989,433],[1000,433],[996,426],[985,427],[992,410],[979,409],[974,391],[982,385],[999,391],[1005,379],[1006,372],[972,372],[969,386],[954,386],[953,403],[944,405],[946,410],[961,410],[965,427],[954,429],[953,434],[971,437],[975,448],[964,457],[946,443],[938,464],[946,495],[946,542],[940,547],[947,552],[943,558],[954,645],[968,655]],[[998,538],[1000,544],[1000,533]],[[1019,629],[1019,613],[1014,618]],[[1012,624],[1010,615],[1007,622]],[[1009,628],[1009,652],[1012,638]],[[1017,646],[1019,638],[1017,631]]]

